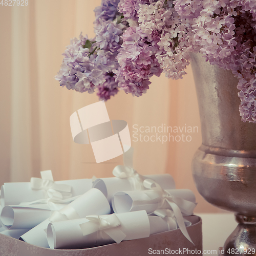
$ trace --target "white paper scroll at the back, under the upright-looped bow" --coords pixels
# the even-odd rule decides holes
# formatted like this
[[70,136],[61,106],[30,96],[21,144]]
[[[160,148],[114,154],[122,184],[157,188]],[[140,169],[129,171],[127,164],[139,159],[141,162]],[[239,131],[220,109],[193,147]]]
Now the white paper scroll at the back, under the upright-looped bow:
[[[146,175],[144,178],[149,178],[161,185],[163,189],[174,189],[175,182],[171,175],[169,174],[159,174],[159,175]],[[118,191],[129,191],[133,190],[134,186],[131,179],[121,179],[117,177],[96,179],[93,183],[93,187],[98,188],[102,193],[108,198],[110,204],[112,197]]]

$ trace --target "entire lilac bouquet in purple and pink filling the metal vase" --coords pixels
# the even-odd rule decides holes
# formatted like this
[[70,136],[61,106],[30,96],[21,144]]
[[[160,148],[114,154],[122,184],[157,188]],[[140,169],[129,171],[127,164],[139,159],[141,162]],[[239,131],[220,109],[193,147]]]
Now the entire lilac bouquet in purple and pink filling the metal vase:
[[63,54],[60,86],[141,96],[153,75],[182,78],[200,52],[238,77],[240,116],[256,123],[255,0],[102,0],[95,16],[95,38],[80,35]]

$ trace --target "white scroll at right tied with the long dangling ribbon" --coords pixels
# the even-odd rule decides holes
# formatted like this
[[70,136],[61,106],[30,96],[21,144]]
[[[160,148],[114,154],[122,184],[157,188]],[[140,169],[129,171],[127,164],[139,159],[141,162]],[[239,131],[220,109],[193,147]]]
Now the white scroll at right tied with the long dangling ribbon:
[[[189,189],[166,189],[170,196],[179,198],[177,204],[183,214],[190,215],[196,207],[196,197]],[[182,200],[180,200],[182,199]],[[163,205],[161,195],[156,190],[132,190],[119,191],[112,198],[112,207],[115,213],[146,210],[147,214],[152,214],[156,209],[172,209],[167,202]]]

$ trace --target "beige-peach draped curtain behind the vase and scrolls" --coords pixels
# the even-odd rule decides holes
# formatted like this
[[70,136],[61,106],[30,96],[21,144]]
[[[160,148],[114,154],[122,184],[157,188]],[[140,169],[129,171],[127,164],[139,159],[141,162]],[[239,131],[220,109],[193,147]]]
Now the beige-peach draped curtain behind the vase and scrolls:
[[[69,117],[96,95],[61,88],[57,74],[70,38],[93,37],[94,8],[100,0],[29,0],[28,6],[0,8],[0,185],[24,182],[51,169],[55,180],[109,177],[122,156],[96,164],[90,145],[72,140]],[[196,212],[217,212],[197,192],[190,163],[201,144],[200,119],[191,69],[179,81],[153,77],[142,97],[121,91],[106,102],[111,119],[129,124],[134,167],[141,174],[169,173],[177,188],[197,197]],[[190,142],[135,141],[135,127],[198,126]],[[144,131],[142,129],[141,131]],[[145,135],[154,135],[141,133]],[[181,135],[179,133],[178,135]],[[164,135],[164,134],[161,134]],[[171,135],[177,135],[172,133]]]

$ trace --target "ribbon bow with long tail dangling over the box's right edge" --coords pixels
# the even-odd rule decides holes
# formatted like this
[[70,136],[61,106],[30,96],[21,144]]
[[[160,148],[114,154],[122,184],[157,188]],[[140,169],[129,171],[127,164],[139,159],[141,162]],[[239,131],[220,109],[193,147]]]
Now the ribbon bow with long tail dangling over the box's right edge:
[[159,209],[164,208],[165,202],[169,204],[169,206],[172,208],[172,210],[174,212],[174,216],[177,220],[177,224],[179,225],[181,232],[191,243],[193,243],[191,238],[189,237],[188,232],[187,232],[187,229],[186,229],[186,226],[184,223],[184,219],[182,216],[182,212],[181,212],[179,205],[185,207],[185,204],[187,203],[189,206],[188,207],[189,209],[188,210],[183,209],[183,210],[186,211],[186,214],[192,215],[193,211],[191,212],[189,210],[191,210],[192,204],[194,205],[194,208],[195,208],[196,204],[189,202],[187,200],[184,200],[182,198],[178,198],[178,197],[174,197],[174,196],[170,195],[169,193],[167,193],[167,191],[163,190],[159,184],[157,184],[155,181],[153,181],[151,179],[144,180],[143,185],[145,188],[153,189],[153,190],[157,191],[159,196],[162,198],[160,205],[159,205]]

